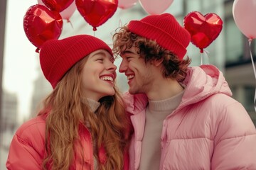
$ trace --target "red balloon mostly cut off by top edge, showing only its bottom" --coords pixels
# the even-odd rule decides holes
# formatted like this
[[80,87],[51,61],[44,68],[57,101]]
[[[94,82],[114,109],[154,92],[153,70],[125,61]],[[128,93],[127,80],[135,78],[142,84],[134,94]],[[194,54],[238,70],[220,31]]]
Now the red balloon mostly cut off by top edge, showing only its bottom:
[[50,10],[61,12],[65,8],[68,8],[70,4],[73,3],[74,0],[42,0],[43,4],[45,4]]

